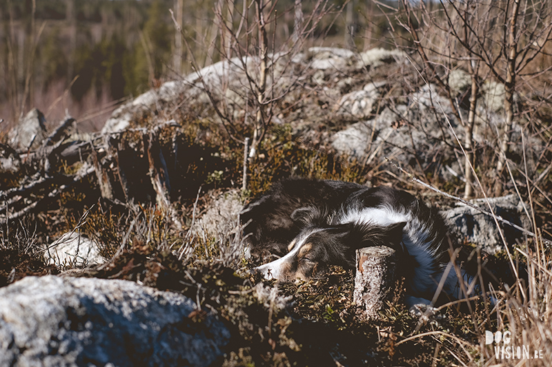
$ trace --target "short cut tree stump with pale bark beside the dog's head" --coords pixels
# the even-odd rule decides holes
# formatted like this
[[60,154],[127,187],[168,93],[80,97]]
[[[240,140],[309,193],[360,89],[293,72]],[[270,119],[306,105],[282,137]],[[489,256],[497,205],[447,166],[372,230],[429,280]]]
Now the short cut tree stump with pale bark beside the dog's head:
[[364,308],[368,319],[377,319],[395,285],[395,250],[389,247],[364,247],[357,250],[354,302]]

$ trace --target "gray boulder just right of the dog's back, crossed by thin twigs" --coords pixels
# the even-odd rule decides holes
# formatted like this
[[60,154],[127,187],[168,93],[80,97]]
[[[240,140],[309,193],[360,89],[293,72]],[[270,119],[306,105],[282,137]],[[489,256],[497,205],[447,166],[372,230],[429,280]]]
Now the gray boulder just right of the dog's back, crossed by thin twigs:
[[[471,202],[478,207],[489,211],[484,199],[475,199]],[[497,216],[512,222],[524,229],[531,229],[531,220],[526,215],[522,201],[515,195],[490,198],[489,202]],[[459,204],[453,209],[441,212],[442,216],[449,222],[449,229],[459,240],[466,240],[473,244],[480,245],[486,253],[494,254],[504,249],[504,242],[500,238],[493,217],[488,216],[467,205]],[[504,239],[509,245],[523,240],[521,231],[500,223]]]

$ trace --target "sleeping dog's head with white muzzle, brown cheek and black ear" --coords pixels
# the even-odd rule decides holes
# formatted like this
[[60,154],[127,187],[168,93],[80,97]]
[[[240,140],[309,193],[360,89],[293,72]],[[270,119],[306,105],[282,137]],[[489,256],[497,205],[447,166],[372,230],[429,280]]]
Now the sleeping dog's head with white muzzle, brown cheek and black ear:
[[[311,215],[311,214],[309,214]],[[308,280],[327,268],[355,266],[355,250],[362,247],[387,246],[401,251],[405,222],[386,227],[371,223],[346,223],[304,228],[288,246],[288,253],[278,260],[255,269],[270,280]]]

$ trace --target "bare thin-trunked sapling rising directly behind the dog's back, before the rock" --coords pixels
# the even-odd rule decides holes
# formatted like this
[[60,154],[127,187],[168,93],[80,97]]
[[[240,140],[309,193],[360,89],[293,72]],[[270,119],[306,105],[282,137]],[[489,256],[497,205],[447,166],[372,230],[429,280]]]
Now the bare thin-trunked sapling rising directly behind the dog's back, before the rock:
[[[249,158],[255,158],[259,143],[266,136],[275,116],[277,103],[289,94],[301,78],[292,67],[292,60],[302,52],[306,41],[314,37],[322,19],[332,14],[327,0],[318,0],[309,14],[296,5],[293,10],[293,34],[275,43],[277,21],[275,4],[255,0],[253,10],[247,2],[219,1],[215,7],[215,23],[219,28],[221,62],[217,80],[201,74],[193,57],[186,34],[184,41],[192,54],[192,65],[201,88],[230,138],[244,143],[250,136]],[[339,14],[339,11],[337,12]],[[177,29],[181,25],[173,17]],[[215,67],[213,65],[213,67]]]

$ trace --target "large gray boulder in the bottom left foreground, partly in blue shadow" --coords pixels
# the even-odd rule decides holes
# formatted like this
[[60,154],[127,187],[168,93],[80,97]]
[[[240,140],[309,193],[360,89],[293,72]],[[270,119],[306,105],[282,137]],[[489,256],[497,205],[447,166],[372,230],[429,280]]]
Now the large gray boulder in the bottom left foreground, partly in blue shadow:
[[26,277],[0,289],[0,366],[209,366],[230,332],[126,280]]

